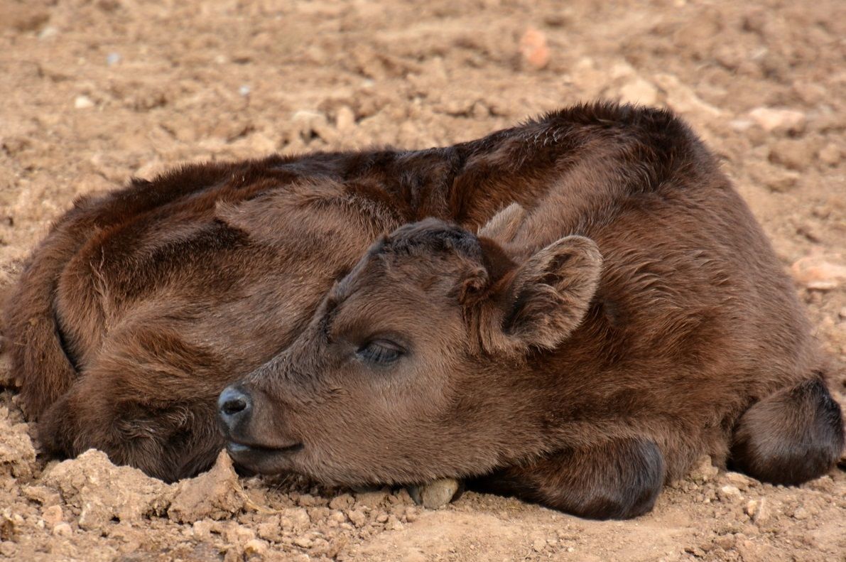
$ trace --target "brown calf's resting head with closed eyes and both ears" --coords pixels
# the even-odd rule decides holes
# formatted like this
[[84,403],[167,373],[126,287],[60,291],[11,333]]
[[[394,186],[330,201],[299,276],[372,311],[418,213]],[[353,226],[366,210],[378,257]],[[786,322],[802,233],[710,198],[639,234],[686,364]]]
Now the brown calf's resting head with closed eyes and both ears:
[[602,258],[580,236],[519,251],[522,214],[508,207],[479,234],[426,219],[373,244],[294,344],[221,394],[234,460],[413,483],[547,452],[525,359],[580,324]]

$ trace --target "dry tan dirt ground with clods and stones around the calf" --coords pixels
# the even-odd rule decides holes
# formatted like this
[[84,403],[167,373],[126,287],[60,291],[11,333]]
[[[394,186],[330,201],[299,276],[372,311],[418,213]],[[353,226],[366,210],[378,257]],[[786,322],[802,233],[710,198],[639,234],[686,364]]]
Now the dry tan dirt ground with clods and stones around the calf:
[[[603,5],[604,4],[604,5]],[[846,3],[0,0],[0,297],[75,196],[176,163],[452,144],[598,96],[668,105],[797,280],[846,399]],[[0,355],[0,558],[846,560],[846,472],[706,460],[634,521],[465,493],[442,510],[104,455],[45,464]],[[5,389],[3,389],[5,385]]]

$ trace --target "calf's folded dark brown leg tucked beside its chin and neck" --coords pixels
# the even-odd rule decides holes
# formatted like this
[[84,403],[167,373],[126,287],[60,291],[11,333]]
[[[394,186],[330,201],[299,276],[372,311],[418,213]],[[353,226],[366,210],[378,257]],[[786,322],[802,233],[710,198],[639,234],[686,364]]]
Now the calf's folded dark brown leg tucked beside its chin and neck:
[[514,496],[590,519],[629,519],[652,509],[664,459],[645,438],[565,449],[468,482],[469,489]]

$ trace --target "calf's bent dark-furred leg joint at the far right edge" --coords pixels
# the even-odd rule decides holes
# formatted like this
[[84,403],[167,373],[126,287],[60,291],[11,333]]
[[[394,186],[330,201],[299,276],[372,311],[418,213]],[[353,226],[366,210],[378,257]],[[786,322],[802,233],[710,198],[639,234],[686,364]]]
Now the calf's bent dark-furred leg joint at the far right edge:
[[756,402],[734,429],[729,466],[774,484],[820,477],[843,451],[840,406],[815,378]]

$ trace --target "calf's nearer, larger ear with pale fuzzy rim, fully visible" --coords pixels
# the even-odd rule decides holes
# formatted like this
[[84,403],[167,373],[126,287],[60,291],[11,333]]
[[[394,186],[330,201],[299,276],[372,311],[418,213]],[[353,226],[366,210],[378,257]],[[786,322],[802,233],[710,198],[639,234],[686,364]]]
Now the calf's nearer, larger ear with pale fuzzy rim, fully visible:
[[514,273],[503,311],[513,345],[552,349],[585,317],[602,272],[596,243],[567,236],[538,251]]

